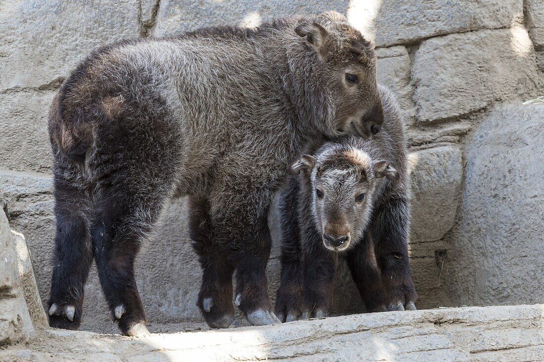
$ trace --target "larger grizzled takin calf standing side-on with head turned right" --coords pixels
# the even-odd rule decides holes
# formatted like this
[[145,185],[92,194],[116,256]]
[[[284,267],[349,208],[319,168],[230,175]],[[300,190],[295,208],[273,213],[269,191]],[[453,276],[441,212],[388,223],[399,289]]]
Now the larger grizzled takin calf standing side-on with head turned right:
[[267,215],[304,145],[380,130],[372,44],[338,13],[256,29],[205,28],[99,49],[61,86],[48,129],[57,234],[48,314],[81,323],[93,260],[122,333],[146,334],[134,259],[165,204],[189,197],[211,327],[236,304],[278,322],[268,298]]

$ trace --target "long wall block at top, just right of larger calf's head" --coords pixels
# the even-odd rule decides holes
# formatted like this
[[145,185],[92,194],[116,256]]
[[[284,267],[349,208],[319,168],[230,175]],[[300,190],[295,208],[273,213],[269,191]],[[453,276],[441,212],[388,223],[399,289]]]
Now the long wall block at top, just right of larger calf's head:
[[523,1],[354,1],[348,17],[382,47],[469,30],[508,28],[523,20]]

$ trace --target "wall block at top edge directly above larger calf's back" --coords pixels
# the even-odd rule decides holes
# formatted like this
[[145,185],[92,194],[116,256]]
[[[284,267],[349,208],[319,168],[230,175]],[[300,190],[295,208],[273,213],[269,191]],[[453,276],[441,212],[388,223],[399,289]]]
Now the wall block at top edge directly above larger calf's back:
[[[347,0],[293,1],[212,1],[163,0],[157,14],[155,36],[218,25],[258,26],[262,22],[294,14],[317,14],[337,10],[346,12]],[[149,5],[148,5],[149,8]]]

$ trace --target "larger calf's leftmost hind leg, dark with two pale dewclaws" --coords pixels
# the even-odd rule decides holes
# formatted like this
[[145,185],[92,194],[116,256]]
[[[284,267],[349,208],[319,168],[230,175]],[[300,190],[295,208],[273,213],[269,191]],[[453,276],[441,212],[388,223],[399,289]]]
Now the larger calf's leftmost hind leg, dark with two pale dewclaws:
[[73,169],[75,166],[61,162],[55,160],[54,168],[57,232],[47,312],[51,327],[78,329],[83,310],[83,289],[93,256],[89,197],[77,179],[70,179],[77,174]]

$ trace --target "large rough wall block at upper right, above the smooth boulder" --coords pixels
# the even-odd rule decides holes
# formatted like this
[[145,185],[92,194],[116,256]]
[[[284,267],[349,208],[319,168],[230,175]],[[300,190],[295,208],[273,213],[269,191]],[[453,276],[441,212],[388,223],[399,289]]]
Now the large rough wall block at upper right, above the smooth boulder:
[[415,53],[412,81],[421,122],[465,115],[542,89],[532,43],[522,27],[425,40]]

